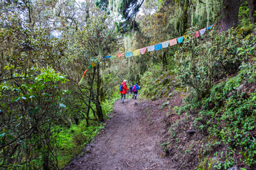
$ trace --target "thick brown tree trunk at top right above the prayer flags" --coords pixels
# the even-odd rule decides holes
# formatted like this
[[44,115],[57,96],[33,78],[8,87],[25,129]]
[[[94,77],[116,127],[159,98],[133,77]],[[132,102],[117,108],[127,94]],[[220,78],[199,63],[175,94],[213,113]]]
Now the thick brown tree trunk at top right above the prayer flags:
[[238,13],[240,0],[224,0],[223,10],[221,11],[222,19],[220,20],[220,32],[226,31],[238,24]]

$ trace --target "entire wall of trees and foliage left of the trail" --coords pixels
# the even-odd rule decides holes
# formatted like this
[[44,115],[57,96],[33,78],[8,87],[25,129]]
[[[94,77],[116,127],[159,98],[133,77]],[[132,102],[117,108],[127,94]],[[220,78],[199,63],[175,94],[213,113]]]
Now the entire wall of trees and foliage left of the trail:
[[[111,111],[103,93],[109,82],[96,60],[114,50],[117,33],[106,24],[111,18],[90,2],[90,18],[77,18],[83,13],[73,11],[75,1],[4,2],[0,167],[59,169],[102,129]],[[78,86],[92,62],[97,66]]]

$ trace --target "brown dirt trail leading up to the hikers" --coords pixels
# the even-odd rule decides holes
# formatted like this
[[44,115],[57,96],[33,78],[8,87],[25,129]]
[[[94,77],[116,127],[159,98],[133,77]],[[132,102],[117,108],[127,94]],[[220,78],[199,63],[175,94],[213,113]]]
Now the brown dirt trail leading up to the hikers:
[[[65,167],[68,169],[172,169],[170,158],[163,157],[159,124],[161,115],[151,117],[148,102],[133,99],[114,103],[114,117],[104,132],[87,147],[89,153]],[[157,115],[157,114],[156,114]],[[154,120],[152,120],[154,119]],[[162,123],[161,123],[162,124]]]

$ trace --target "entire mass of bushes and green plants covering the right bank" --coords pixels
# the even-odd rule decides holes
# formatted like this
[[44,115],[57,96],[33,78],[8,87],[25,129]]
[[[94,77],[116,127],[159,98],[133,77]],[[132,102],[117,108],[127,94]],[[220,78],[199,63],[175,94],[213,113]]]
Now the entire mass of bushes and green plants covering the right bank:
[[178,78],[191,89],[179,112],[191,115],[193,126],[214,139],[208,142],[206,152],[201,152],[202,162],[205,157],[213,157],[207,152],[211,147],[225,145],[225,152],[214,155],[221,160],[217,169],[238,164],[253,169],[256,167],[253,57],[256,37],[246,35],[242,29],[230,29],[218,35],[210,32],[202,40],[188,39],[192,45],[183,45],[176,52]]

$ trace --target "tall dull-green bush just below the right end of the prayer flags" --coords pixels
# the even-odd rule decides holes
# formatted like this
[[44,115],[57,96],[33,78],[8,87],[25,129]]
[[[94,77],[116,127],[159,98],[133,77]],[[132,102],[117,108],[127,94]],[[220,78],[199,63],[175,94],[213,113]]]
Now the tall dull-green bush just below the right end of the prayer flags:
[[255,54],[256,38],[245,35],[242,30],[230,29],[228,32],[209,37],[193,38],[194,30],[189,30],[184,45],[176,52],[178,78],[193,87],[199,98],[210,93],[213,84],[226,74],[238,72],[242,62]]

